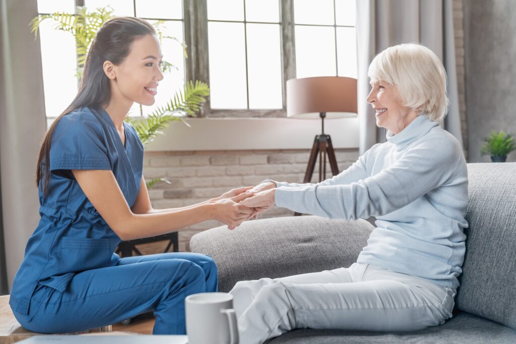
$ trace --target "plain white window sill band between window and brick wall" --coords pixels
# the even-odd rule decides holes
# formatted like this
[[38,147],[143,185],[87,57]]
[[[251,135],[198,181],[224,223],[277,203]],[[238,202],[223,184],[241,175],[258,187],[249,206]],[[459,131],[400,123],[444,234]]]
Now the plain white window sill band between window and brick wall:
[[[321,133],[321,121],[290,118],[199,118],[187,119],[191,127],[172,122],[149,143],[147,152],[290,150],[312,148]],[[357,117],[326,119],[325,134],[334,149],[358,148]]]

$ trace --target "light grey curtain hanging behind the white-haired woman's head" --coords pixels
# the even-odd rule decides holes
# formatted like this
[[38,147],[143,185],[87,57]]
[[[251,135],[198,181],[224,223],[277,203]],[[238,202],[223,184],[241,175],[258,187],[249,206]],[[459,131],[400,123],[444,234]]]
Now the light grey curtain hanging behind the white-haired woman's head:
[[441,125],[462,145],[452,15],[451,0],[357,0],[360,155],[385,142],[385,129],[376,126],[374,111],[366,102],[369,63],[385,48],[411,42],[427,46],[444,64],[450,108]]

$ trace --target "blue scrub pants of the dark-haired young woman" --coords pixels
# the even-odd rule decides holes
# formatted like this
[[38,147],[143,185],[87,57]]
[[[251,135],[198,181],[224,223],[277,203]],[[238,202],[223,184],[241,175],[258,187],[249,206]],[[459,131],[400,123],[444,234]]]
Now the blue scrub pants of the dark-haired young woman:
[[25,329],[78,332],[154,310],[153,334],[185,334],[185,298],[217,291],[214,260],[195,253],[122,258],[117,266],[76,274],[64,292],[38,284],[30,316],[15,313]]

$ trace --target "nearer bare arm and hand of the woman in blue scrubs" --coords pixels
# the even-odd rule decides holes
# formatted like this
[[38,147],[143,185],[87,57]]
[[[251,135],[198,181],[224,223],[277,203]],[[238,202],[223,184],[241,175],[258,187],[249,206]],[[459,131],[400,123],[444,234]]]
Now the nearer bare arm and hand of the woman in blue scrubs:
[[[252,195],[252,193],[246,192],[234,198],[210,200],[186,209],[135,214],[125,201],[112,171],[72,170],[72,173],[91,204],[109,227],[124,241],[177,231],[209,219],[215,219],[231,226],[239,225],[252,214],[252,208],[238,203]],[[144,196],[149,199],[148,194],[138,195],[138,197]],[[139,210],[145,207],[142,204],[138,205]],[[152,209],[150,206],[149,208]]]

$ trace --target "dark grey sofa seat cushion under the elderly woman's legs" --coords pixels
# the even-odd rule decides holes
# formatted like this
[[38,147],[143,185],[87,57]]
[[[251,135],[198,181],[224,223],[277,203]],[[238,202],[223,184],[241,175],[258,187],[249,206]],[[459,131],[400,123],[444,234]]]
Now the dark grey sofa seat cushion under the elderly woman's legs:
[[470,313],[460,312],[440,326],[414,332],[295,330],[270,344],[340,343],[515,343],[516,331]]

